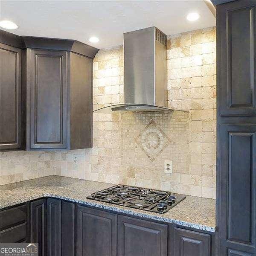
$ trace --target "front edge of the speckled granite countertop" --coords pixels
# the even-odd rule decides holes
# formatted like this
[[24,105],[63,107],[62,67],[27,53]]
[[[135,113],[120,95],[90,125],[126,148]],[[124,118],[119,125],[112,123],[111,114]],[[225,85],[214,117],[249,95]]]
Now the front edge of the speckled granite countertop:
[[44,193],[41,195],[37,195],[37,196],[32,196],[32,197],[28,197],[26,199],[20,199],[17,201],[13,201],[10,202],[8,204],[2,204],[0,205],[0,209],[4,209],[7,207],[12,207],[16,204],[23,204],[26,203],[28,201],[32,201],[32,200],[36,200],[39,198],[45,198],[45,197],[51,197],[51,198],[58,198],[58,199],[62,199],[62,200],[67,200],[67,201],[71,201],[71,202],[76,202],[79,204],[84,204],[84,205],[88,205],[88,206],[92,206],[92,207],[97,207],[100,209],[108,209],[114,212],[121,212],[121,213],[126,213],[129,215],[134,215],[134,216],[138,216],[138,217],[142,217],[142,218],[149,218],[155,221],[163,221],[166,223],[170,223],[170,224],[177,224],[183,227],[189,227],[189,228],[195,228],[198,230],[203,230],[203,231],[208,231],[208,232],[212,232],[215,233],[216,228],[215,227],[209,227],[206,225],[202,225],[202,224],[194,224],[194,223],[190,223],[187,221],[179,221],[179,220],[175,220],[175,219],[171,219],[171,218],[165,218],[165,217],[160,217],[160,216],[154,216],[154,215],[150,215],[147,213],[143,213],[143,212],[134,212],[132,210],[129,209],[121,209],[118,207],[112,207],[112,206],[108,206],[108,205],[104,205],[104,204],[100,204],[99,201],[97,201],[97,203],[95,202],[90,202],[90,201],[84,201],[84,200],[79,200],[79,199],[74,199],[74,198],[69,198],[69,197],[65,197],[65,196],[60,196],[57,194],[52,194],[52,193]]

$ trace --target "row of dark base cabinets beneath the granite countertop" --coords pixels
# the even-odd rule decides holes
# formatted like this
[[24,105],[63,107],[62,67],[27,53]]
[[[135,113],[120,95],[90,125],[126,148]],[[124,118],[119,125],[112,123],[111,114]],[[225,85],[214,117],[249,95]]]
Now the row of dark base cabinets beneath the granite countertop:
[[0,242],[38,243],[39,256],[213,256],[215,251],[213,233],[56,198],[0,210]]

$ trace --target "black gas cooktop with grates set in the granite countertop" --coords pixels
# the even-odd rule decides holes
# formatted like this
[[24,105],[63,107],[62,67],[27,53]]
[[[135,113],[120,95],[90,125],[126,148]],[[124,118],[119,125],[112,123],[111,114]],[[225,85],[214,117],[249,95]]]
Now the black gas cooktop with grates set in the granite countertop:
[[87,198],[150,212],[165,213],[186,196],[156,189],[116,185],[95,192]]

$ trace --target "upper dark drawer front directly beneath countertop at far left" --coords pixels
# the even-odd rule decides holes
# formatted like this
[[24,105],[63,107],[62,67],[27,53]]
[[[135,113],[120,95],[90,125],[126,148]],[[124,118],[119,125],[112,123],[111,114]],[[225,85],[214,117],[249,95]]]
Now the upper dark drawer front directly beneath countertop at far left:
[[27,221],[29,209],[27,204],[5,209],[0,212],[0,231]]

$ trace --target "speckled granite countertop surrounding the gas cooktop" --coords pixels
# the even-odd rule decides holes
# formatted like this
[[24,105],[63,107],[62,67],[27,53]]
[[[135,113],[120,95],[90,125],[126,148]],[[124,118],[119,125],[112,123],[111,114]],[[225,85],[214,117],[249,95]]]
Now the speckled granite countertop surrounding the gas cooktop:
[[0,186],[0,209],[42,197],[73,201],[115,212],[215,232],[215,200],[187,196],[164,214],[94,201],[86,197],[113,184],[61,176],[47,176]]

